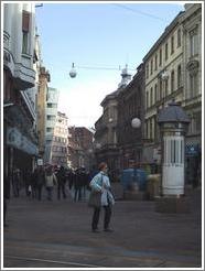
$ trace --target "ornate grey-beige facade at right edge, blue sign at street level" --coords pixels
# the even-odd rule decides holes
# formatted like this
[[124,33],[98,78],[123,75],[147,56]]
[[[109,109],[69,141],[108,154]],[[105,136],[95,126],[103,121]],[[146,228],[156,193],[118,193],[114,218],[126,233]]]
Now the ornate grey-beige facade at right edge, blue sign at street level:
[[196,185],[202,170],[202,4],[185,4],[182,28],[184,33],[182,106],[191,120],[186,136],[186,181]]

